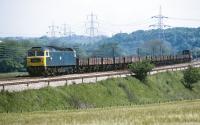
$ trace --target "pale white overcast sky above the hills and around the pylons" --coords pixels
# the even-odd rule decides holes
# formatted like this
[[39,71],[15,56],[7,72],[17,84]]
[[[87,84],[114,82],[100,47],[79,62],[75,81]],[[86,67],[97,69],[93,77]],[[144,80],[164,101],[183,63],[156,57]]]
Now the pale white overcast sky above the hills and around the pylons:
[[149,29],[159,7],[172,27],[199,27],[200,0],[0,0],[0,36],[42,36],[66,23],[85,34],[86,16],[98,16],[99,34]]

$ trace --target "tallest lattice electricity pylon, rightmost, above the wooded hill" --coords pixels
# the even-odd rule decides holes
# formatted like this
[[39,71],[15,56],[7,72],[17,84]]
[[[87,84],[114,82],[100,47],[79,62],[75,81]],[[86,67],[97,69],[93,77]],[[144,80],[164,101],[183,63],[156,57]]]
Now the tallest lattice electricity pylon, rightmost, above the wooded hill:
[[[167,19],[168,17],[162,15],[162,7],[161,6],[160,6],[160,9],[159,9],[159,14],[157,16],[153,16],[151,18],[152,19],[157,19],[157,23],[153,24],[153,25],[150,25],[150,27],[157,28],[159,30],[159,34],[158,34],[159,40],[164,40],[165,36],[164,36],[163,28],[170,27],[170,26],[169,25],[165,25],[164,22],[163,22],[163,20]],[[161,36],[163,36],[163,39],[161,39]]]

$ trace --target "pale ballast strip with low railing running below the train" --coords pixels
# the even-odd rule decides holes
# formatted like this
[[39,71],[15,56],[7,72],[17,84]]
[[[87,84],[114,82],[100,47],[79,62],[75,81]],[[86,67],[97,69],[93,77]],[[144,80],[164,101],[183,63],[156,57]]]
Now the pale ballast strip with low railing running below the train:
[[[191,63],[176,64],[156,67],[150,72],[155,74],[166,71],[184,70],[189,65],[200,67],[200,61],[193,61]],[[108,72],[93,72],[87,74],[70,74],[56,77],[28,77],[19,79],[9,79],[0,81],[0,91],[23,91],[26,89],[39,89],[46,86],[63,86],[70,84],[91,83],[104,80],[111,77],[126,77],[132,75],[129,71],[108,71]]]

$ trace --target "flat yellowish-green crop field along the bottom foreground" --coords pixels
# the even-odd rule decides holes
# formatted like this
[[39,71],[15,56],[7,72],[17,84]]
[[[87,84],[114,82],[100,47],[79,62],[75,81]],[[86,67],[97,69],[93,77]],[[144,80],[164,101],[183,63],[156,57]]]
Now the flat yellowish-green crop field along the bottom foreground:
[[199,125],[200,100],[163,104],[1,113],[0,125]]

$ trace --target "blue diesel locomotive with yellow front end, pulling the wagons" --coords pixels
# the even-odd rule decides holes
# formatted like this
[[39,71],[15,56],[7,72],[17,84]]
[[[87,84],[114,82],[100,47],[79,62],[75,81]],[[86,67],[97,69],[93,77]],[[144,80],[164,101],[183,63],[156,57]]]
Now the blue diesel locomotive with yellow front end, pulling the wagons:
[[75,66],[76,52],[71,48],[45,46],[28,50],[27,71],[30,75],[70,73]]

